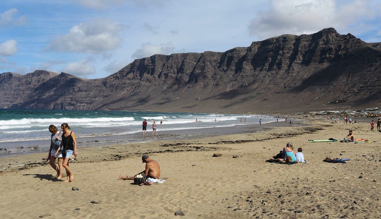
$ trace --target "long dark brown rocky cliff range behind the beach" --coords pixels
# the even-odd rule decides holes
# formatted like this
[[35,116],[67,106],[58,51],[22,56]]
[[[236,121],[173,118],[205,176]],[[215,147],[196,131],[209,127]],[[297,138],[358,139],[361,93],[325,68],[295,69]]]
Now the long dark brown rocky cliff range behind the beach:
[[226,52],[153,55],[103,79],[6,72],[0,75],[0,107],[176,112],[364,107],[381,104],[380,76],[380,43],[327,28]]

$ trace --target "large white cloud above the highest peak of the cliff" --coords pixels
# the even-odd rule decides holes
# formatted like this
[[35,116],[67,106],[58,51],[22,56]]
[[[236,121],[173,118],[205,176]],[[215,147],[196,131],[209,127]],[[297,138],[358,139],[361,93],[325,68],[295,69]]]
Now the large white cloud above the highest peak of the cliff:
[[249,23],[250,35],[266,39],[282,34],[310,34],[323,28],[347,29],[358,19],[374,19],[367,1],[272,0],[268,11],[259,11]]

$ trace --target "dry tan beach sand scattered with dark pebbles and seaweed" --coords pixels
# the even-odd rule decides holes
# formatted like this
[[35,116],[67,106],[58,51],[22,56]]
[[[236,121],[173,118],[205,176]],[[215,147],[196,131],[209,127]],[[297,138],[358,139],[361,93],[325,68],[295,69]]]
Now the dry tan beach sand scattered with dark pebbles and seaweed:
[[[251,134],[81,148],[70,164],[71,183],[53,178],[42,161],[46,153],[1,158],[0,167],[10,168],[0,173],[0,218],[380,218],[381,133],[369,131],[368,122],[310,121]],[[342,139],[349,128],[376,142],[306,142]],[[264,162],[287,142],[302,147],[309,163]],[[118,180],[144,169],[142,153],[160,164],[165,183]],[[328,156],[352,160],[323,162]],[[177,210],[186,216],[175,216]]]

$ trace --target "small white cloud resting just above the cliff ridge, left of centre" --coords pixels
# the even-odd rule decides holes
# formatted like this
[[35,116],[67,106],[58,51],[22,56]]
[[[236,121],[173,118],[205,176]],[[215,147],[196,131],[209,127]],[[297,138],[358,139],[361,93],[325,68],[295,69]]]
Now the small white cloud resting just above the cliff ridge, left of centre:
[[150,42],[143,43],[142,47],[137,49],[134,54],[132,54],[132,57],[134,58],[143,58],[143,57],[149,57],[154,54],[164,54],[168,55],[173,53],[174,47],[171,42],[168,43],[162,43],[160,45],[152,45]]

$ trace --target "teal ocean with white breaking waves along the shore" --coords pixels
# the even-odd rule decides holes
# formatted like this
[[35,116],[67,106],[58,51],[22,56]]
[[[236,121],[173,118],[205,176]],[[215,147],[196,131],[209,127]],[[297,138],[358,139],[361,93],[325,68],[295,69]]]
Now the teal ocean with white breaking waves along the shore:
[[[196,118],[197,124],[195,124]],[[161,131],[165,131],[167,135],[179,130],[189,130],[188,133],[192,133],[194,129],[233,127],[244,124],[258,125],[259,119],[262,119],[262,123],[277,120],[271,116],[239,114],[0,109],[0,146],[14,143],[13,147],[17,147],[22,145],[22,142],[29,144],[39,140],[38,144],[43,145],[46,150],[51,135],[48,131],[49,125],[54,124],[61,131],[62,123],[68,123],[77,138],[93,137],[95,139],[109,136],[108,139],[136,139],[132,136],[142,132],[144,119],[148,122],[147,135],[152,135],[151,120],[154,120],[159,136]],[[160,124],[160,120],[163,120],[163,124]],[[113,135],[118,136],[112,137]],[[1,152],[4,154],[0,155],[5,155],[5,151]]]

